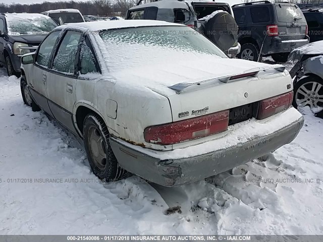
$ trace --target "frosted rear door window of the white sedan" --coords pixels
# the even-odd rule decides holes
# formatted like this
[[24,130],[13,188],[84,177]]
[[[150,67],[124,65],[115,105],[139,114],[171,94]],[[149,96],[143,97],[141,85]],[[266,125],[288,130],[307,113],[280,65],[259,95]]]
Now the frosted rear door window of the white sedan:
[[53,69],[59,72],[74,74],[75,57],[77,47],[82,33],[68,31],[57,51],[54,59]]

